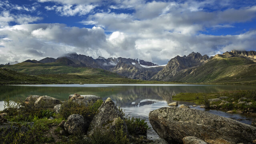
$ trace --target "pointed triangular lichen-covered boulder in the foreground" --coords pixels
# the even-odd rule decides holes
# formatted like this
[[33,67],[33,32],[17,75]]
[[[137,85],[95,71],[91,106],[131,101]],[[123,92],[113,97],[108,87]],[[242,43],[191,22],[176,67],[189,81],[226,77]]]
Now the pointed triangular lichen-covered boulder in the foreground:
[[99,107],[97,114],[91,121],[87,135],[92,135],[95,130],[100,130],[101,132],[109,131],[115,134],[116,128],[121,127],[120,125],[123,126],[123,131],[128,136],[127,126],[123,115],[111,98],[107,98],[107,100]]

